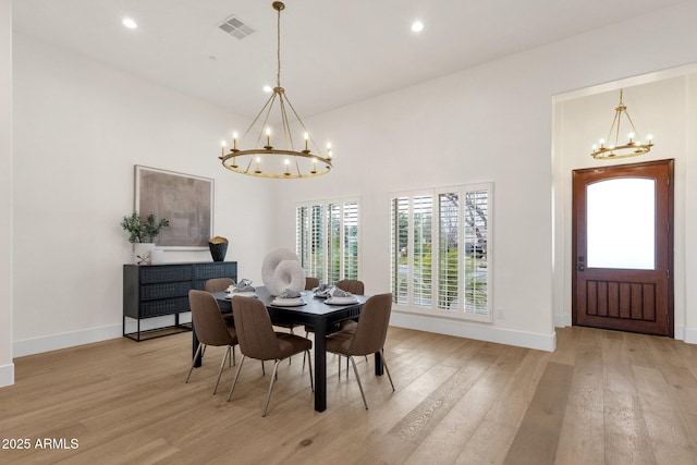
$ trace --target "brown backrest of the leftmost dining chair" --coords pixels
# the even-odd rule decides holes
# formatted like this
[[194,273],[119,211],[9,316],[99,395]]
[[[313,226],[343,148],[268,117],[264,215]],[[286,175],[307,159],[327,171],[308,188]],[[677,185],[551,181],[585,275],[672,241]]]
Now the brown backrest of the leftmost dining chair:
[[192,289],[188,291],[188,304],[194,331],[200,342],[206,345],[233,345],[236,342],[211,293]]

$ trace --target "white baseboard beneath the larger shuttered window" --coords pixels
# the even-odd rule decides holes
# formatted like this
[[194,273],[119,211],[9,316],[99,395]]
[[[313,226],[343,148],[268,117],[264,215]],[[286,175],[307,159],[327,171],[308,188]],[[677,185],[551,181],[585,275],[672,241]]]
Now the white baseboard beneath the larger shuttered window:
[[491,326],[474,325],[467,321],[433,318],[425,315],[392,311],[390,326],[429,331],[439,334],[456,335],[499,344],[516,345],[554,352],[557,348],[557,333],[537,334],[531,332],[512,331]]

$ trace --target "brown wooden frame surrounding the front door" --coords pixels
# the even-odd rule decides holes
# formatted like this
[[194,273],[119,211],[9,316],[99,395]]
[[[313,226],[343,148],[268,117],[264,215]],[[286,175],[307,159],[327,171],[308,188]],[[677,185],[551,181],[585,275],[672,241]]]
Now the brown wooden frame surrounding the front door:
[[[653,160],[653,161],[645,161],[645,162],[638,162],[638,163],[622,163],[622,164],[613,164],[613,166],[607,166],[607,167],[596,167],[596,168],[585,168],[585,169],[578,169],[578,170],[572,170],[572,183],[571,183],[571,188],[572,188],[572,193],[573,193],[573,188],[574,188],[574,181],[573,179],[575,178],[575,173],[577,172],[588,172],[588,171],[594,171],[594,172],[612,172],[612,171],[631,171],[634,169],[641,169],[641,168],[647,168],[647,167],[652,167],[652,166],[665,166],[668,169],[668,180],[670,183],[670,188],[668,189],[668,206],[667,209],[668,211],[665,211],[665,215],[668,217],[668,221],[669,221],[669,231],[668,231],[668,237],[667,237],[667,249],[668,249],[668,272],[669,272],[669,278],[668,278],[668,308],[667,308],[667,317],[668,317],[668,334],[667,336],[669,338],[674,338],[675,336],[675,290],[674,290],[674,280],[675,280],[675,271],[674,271],[674,257],[675,257],[675,248],[674,248],[674,224],[675,224],[675,192],[674,192],[674,187],[675,187],[675,176],[674,176],[674,172],[675,172],[675,160],[674,159],[662,159],[662,160]],[[575,255],[576,255],[576,250],[577,250],[577,237],[576,237],[576,213],[575,213],[575,201],[574,201],[574,196],[572,194],[572,208],[571,208],[571,217],[572,217],[572,229],[571,229],[571,245],[572,245],[572,253],[571,253],[571,314],[572,314],[572,326],[577,326],[578,321],[577,321],[577,308],[576,308],[576,285],[577,285],[577,273],[578,270],[576,268],[577,264],[576,264],[576,259],[575,259]],[[658,228],[658,225],[657,225]]]

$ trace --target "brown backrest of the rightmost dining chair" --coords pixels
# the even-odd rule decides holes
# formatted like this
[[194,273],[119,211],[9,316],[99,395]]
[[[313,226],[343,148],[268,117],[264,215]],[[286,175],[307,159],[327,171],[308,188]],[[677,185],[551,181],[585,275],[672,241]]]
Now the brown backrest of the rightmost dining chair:
[[348,348],[352,355],[368,355],[384,346],[392,311],[392,293],[368,297],[358,317],[358,326]]

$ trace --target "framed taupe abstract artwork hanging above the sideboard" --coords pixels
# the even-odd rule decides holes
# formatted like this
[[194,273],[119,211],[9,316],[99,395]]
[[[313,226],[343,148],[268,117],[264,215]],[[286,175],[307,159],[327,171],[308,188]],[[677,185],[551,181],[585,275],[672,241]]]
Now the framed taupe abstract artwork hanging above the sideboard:
[[164,249],[207,250],[213,231],[215,180],[135,166],[134,210],[169,220],[156,240]]

